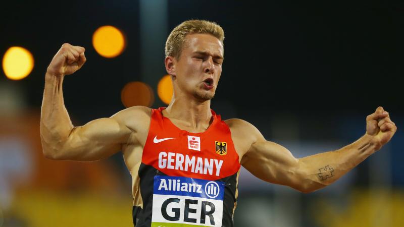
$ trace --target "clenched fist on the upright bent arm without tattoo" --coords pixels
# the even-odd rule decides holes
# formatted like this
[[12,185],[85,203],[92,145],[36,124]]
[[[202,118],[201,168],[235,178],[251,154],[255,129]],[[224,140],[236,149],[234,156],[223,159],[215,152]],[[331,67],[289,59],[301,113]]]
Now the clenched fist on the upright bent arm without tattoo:
[[84,47],[64,43],[47,67],[48,74],[69,75],[79,70],[85,63]]

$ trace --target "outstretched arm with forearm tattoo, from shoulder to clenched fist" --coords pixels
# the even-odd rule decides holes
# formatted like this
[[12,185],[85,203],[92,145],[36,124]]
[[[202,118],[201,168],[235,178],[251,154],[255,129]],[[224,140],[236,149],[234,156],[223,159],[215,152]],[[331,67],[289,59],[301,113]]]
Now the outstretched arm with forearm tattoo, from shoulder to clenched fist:
[[254,141],[242,165],[258,178],[309,193],[332,184],[386,144],[397,130],[388,113],[378,107],[367,117],[366,134],[339,150],[295,158],[279,144],[266,141],[250,126]]

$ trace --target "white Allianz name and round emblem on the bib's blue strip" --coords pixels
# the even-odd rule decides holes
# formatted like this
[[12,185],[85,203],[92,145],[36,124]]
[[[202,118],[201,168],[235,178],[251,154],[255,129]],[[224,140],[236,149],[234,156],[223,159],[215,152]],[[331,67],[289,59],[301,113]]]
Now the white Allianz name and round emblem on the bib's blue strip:
[[193,192],[193,193],[205,193],[209,198],[216,198],[220,193],[218,183],[210,181],[205,185],[204,191],[202,191],[202,185],[195,183],[181,182],[177,179],[160,179],[159,191],[177,191],[177,192]]

